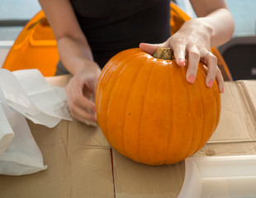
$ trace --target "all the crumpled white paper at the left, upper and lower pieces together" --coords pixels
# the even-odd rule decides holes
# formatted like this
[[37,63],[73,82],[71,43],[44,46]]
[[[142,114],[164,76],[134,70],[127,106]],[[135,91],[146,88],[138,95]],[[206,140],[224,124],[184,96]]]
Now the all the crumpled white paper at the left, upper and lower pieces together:
[[72,120],[64,88],[51,87],[37,69],[1,68],[0,174],[31,174],[47,167],[26,118],[47,127]]

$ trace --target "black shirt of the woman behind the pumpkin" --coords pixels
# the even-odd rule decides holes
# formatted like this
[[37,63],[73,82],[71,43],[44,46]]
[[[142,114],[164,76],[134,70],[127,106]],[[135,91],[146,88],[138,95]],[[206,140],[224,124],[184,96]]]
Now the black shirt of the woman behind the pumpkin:
[[170,36],[168,0],[71,0],[78,22],[101,68],[112,56],[141,42]]

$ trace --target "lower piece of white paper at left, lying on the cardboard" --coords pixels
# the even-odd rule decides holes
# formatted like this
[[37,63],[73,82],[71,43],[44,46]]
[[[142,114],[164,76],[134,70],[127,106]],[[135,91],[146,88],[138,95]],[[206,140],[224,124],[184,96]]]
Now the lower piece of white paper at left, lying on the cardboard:
[[[7,106],[1,90],[0,101],[4,113],[4,115],[1,115],[1,120],[5,118],[9,127],[6,131],[1,130],[0,134],[9,131],[12,138],[15,134],[14,138],[8,142],[10,145],[0,155],[0,174],[17,176],[45,170],[43,156],[31,134],[25,117]],[[2,144],[2,139],[0,144]]]

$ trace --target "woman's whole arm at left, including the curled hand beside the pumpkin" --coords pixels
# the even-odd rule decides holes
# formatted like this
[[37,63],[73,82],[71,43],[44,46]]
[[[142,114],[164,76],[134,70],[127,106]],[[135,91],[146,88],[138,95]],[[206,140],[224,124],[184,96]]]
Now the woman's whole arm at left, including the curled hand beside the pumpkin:
[[94,94],[101,69],[93,61],[92,51],[83,35],[69,0],[39,0],[54,31],[59,57],[73,74],[65,91],[73,118],[96,121],[95,104],[88,97]]

